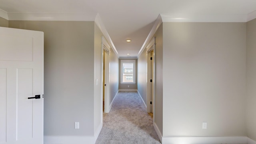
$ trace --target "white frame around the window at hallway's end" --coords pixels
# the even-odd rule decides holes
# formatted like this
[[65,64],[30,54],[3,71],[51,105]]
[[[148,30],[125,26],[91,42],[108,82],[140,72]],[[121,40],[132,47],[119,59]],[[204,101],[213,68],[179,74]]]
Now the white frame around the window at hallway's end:
[[[120,84],[136,84],[136,60],[120,60]],[[123,82],[123,64],[133,64],[133,82]]]

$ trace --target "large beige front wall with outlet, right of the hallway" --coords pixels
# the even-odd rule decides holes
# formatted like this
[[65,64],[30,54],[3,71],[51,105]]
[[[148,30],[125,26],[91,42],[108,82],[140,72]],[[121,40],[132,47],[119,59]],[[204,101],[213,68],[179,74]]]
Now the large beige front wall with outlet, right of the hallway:
[[246,136],[245,66],[246,23],[163,22],[163,136]]

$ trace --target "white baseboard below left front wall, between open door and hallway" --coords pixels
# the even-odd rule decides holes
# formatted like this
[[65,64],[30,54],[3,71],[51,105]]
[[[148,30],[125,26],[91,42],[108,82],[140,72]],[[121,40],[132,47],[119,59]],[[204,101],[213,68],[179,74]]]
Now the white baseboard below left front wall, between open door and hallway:
[[94,144],[94,136],[44,136],[44,144]]

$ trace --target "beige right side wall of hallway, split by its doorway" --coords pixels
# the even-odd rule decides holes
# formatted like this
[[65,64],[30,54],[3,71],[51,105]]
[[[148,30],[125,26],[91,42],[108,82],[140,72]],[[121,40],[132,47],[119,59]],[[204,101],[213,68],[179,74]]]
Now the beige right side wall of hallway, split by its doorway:
[[[163,131],[163,25],[161,24],[156,33],[155,48],[155,102],[154,102],[154,123]],[[138,58],[138,92],[147,104],[147,49],[145,48]]]

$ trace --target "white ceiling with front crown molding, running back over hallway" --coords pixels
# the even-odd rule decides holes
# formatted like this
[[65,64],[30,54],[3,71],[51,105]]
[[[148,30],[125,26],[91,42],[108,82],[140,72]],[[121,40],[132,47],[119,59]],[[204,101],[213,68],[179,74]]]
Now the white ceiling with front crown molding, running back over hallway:
[[138,56],[159,14],[164,22],[256,18],[256,0],[0,0],[0,9],[8,20],[94,21],[99,14],[119,57]]

